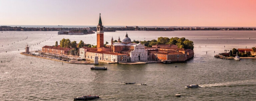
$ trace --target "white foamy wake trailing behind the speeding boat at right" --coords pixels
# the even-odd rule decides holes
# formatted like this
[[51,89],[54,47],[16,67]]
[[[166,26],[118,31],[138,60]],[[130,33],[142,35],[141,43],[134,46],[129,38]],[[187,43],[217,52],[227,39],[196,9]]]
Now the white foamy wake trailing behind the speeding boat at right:
[[244,80],[244,81],[231,81],[224,83],[214,83],[214,84],[203,84],[199,85],[201,87],[218,87],[218,86],[239,86],[239,85],[256,85],[256,79],[254,80]]

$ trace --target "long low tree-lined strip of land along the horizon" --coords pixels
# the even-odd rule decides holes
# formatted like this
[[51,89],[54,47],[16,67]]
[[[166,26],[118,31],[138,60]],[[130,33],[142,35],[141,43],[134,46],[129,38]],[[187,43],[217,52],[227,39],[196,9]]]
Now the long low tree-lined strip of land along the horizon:
[[[61,26],[62,27],[62,26]],[[64,26],[65,27],[65,26]],[[35,27],[11,27],[11,26],[0,26],[0,31],[71,31],[71,30],[87,30],[87,31],[97,31],[96,27],[86,27],[86,28],[35,28]],[[154,28],[147,27],[104,27],[104,32],[115,32],[115,31],[217,31],[217,30],[256,30],[256,28],[201,28],[201,27],[169,27],[160,28],[155,26]]]

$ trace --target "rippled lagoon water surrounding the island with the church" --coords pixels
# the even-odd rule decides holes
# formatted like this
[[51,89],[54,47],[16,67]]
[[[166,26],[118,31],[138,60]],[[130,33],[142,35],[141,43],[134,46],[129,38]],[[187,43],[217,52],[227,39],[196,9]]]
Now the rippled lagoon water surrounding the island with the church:
[[[127,33],[131,40],[141,41],[157,39],[161,36],[186,37],[194,41],[196,56],[186,62],[171,64],[63,63],[62,65],[61,62],[19,53],[25,51],[26,44],[32,50],[38,50],[44,45],[55,45],[55,42],[59,42],[62,38],[77,42],[83,40],[85,43],[96,45],[96,34],[70,36],[57,35],[57,31],[3,32],[0,33],[0,60],[3,62],[0,63],[0,99],[71,101],[73,97],[95,94],[100,96],[100,99],[96,99],[100,101],[256,100],[256,60],[235,61],[213,57],[214,54],[232,48],[255,47],[256,31],[127,31]],[[110,42],[112,36],[114,40],[119,36],[122,39],[125,34],[126,31],[105,32],[104,41]],[[28,38],[23,40],[27,36]],[[91,66],[106,66],[109,70],[90,70]],[[136,82],[136,84],[125,85],[123,82]],[[148,85],[138,85],[140,83]],[[196,83],[202,88],[185,88],[188,84]],[[181,97],[176,97],[175,94],[181,94]]]

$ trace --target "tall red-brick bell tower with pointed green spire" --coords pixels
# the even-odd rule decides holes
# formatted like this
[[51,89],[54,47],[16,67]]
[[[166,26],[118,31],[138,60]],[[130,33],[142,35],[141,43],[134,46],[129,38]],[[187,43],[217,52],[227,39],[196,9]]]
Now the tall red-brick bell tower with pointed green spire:
[[101,18],[99,24],[97,25],[97,48],[104,47],[104,32]]

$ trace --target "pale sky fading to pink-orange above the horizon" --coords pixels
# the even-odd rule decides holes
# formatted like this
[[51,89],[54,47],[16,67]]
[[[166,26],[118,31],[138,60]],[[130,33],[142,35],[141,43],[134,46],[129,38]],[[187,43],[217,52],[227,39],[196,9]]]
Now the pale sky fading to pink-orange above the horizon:
[[256,27],[256,0],[0,0],[0,25]]

